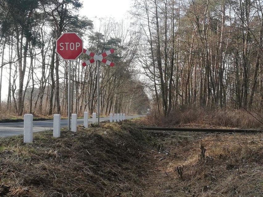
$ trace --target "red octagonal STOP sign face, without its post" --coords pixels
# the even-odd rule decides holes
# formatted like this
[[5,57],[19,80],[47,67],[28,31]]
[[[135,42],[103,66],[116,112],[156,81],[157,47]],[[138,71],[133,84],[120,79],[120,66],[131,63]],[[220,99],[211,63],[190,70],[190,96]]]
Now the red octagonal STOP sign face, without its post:
[[56,52],[63,60],[76,60],[83,53],[83,40],[75,32],[63,33],[56,40]]

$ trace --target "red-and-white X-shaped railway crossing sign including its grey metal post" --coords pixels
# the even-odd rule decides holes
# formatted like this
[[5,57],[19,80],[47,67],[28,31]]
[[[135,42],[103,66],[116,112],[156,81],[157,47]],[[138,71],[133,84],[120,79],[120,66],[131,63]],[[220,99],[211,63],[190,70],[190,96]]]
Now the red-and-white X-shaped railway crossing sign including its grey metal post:
[[115,64],[114,64],[113,62],[110,62],[109,60],[106,60],[104,57],[106,57],[106,56],[114,53],[115,50],[114,50],[114,49],[111,49],[111,50],[109,50],[109,51],[105,51],[104,53],[102,53],[102,54],[100,54],[100,55],[96,55],[95,53],[92,53],[92,52],[90,52],[90,51],[88,51],[88,50],[86,50],[86,49],[84,49],[83,52],[86,53],[87,55],[90,55],[91,57],[93,57],[92,59],[90,59],[90,60],[88,60],[88,61],[86,61],[86,62],[83,62],[83,63],[82,63],[82,66],[83,66],[83,67],[85,67],[85,66],[87,66],[87,65],[89,65],[89,64],[91,64],[91,63],[94,63],[95,61],[98,61],[98,63],[97,63],[97,65],[98,65],[98,73],[97,73],[97,78],[98,78],[98,82],[97,82],[97,84],[98,84],[98,87],[97,87],[97,89],[98,89],[98,98],[97,98],[97,100],[98,100],[98,124],[99,124],[99,112],[100,112],[100,100],[99,100],[99,97],[100,97],[100,95],[99,95],[99,67],[100,67],[100,62],[103,62],[104,64],[107,64],[107,65],[110,65],[111,67],[114,67]]

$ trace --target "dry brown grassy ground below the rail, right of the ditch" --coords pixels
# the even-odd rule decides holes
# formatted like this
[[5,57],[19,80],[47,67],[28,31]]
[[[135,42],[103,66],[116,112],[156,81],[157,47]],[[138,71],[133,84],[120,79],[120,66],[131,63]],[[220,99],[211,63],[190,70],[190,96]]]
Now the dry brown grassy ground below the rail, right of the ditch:
[[[151,134],[158,136],[165,149],[153,151],[159,165],[146,196],[263,196],[263,141],[259,135]],[[207,149],[203,160],[198,157],[200,139]],[[180,166],[182,178],[177,172]]]

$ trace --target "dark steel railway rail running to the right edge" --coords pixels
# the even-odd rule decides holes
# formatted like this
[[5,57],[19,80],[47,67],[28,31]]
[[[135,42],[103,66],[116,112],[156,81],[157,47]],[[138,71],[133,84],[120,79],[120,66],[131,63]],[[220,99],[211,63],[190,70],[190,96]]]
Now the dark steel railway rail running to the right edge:
[[192,131],[192,132],[208,132],[208,133],[263,133],[263,130],[257,129],[201,129],[201,128],[169,128],[169,127],[137,127],[143,130],[159,130],[159,131]]

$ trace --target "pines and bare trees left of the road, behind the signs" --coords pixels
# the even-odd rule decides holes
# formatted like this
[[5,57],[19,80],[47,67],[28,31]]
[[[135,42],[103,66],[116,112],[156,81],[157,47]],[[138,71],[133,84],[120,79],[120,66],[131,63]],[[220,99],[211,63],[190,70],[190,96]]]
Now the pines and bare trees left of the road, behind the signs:
[[[82,68],[88,55],[72,61],[71,101],[68,101],[68,66],[56,53],[56,39],[63,32],[76,32],[85,47],[95,53],[114,48],[114,68],[100,70],[101,113],[141,113],[148,105],[143,84],[131,62],[134,56],[131,32],[123,22],[101,20],[99,31],[93,21],[80,17],[79,0],[0,1],[1,58],[9,75],[8,94],[3,109],[21,116],[23,113],[51,115],[94,112],[97,105],[97,71],[95,65]],[[95,63],[94,63],[95,64]],[[2,83],[1,77],[1,83]],[[1,84],[0,84],[1,87]],[[136,95],[136,96],[135,96]]]

